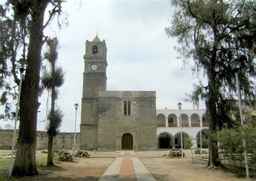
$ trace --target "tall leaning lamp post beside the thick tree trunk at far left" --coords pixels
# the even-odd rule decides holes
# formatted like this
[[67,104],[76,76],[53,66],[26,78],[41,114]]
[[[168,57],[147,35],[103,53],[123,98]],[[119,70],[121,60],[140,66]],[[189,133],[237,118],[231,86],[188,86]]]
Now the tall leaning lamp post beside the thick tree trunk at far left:
[[15,114],[14,133],[12,134],[11,160],[10,160],[10,168],[9,168],[9,175],[8,175],[9,178],[11,178],[12,164],[14,160],[14,147],[15,147],[16,127],[17,127],[17,121],[18,121],[18,112],[19,112],[19,100],[21,99],[23,72],[25,71],[25,68],[23,68],[24,64],[21,63],[21,65],[22,65],[21,68],[19,68],[19,73],[20,73],[19,92],[18,92],[18,100],[17,100],[16,114]]

